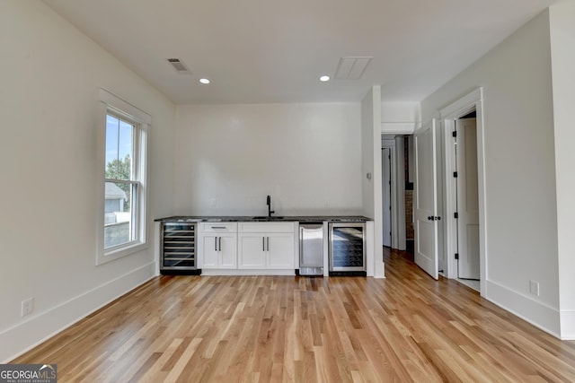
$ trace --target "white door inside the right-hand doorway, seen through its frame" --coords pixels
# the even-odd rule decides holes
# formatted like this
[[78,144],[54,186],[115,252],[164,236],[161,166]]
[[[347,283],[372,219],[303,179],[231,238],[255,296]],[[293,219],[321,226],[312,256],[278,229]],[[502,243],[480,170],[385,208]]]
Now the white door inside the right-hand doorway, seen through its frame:
[[480,279],[477,127],[475,118],[456,120],[458,277]]

